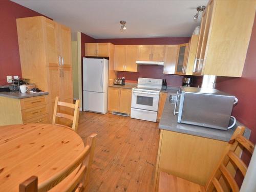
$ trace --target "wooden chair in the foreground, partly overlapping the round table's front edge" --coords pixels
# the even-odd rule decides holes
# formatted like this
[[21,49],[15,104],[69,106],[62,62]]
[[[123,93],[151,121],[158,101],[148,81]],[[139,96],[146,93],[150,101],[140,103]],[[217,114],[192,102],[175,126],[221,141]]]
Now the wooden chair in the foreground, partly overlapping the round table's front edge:
[[59,173],[39,185],[37,177],[32,176],[19,184],[19,192],[83,191],[90,178],[96,136],[97,134],[90,135],[81,154]]

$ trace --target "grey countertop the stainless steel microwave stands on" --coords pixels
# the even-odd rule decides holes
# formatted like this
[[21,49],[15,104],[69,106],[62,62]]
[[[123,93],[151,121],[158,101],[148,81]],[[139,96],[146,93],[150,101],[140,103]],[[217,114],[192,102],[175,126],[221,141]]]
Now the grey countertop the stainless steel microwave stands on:
[[[241,124],[239,121],[228,131],[211,129],[203,126],[189,125],[177,122],[177,115],[174,114],[174,104],[169,102],[169,95],[176,95],[176,90],[167,90],[168,96],[164,105],[163,114],[159,123],[159,129],[195,135],[221,141],[229,141],[236,127]],[[251,130],[246,127],[244,136],[248,139]]]

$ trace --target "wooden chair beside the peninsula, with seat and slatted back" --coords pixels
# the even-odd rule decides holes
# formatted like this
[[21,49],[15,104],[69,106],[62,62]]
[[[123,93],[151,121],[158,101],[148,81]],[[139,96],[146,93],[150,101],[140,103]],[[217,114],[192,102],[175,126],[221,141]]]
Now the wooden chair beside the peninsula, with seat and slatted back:
[[[232,163],[235,167],[237,167],[243,176],[245,176],[247,172],[247,166],[245,163],[234,153],[238,146],[242,146],[245,150],[247,150],[250,154],[253,153],[255,145],[243,137],[243,133],[245,131],[244,126],[238,126],[233,136],[228,142],[227,147],[223,153],[223,156],[218,163],[217,168],[212,173],[210,179],[206,183],[205,186],[199,185],[197,183],[193,183],[187,181],[185,179],[176,177],[171,174],[167,174],[165,172],[160,172],[159,177],[159,192],[185,192],[185,191],[217,191],[223,192],[225,191],[225,186],[222,186],[222,182],[220,182],[220,178],[224,178],[224,180],[228,183],[229,188],[232,189],[233,192],[239,191],[239,187],[237,182],[234,180],[229,170],[227,169],[227,164],[229,162]],[[230,191],[230,190],[229,190]]]

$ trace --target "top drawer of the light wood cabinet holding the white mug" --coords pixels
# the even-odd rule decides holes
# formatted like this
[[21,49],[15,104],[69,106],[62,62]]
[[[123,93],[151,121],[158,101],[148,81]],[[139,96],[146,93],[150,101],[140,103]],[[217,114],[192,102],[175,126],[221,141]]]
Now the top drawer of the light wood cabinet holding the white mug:
[[29,109],[35,106],[45,105],[47,104],[46,96],[37,96],[37,97],[30,97],[26,99],[20,99],[20,109]]

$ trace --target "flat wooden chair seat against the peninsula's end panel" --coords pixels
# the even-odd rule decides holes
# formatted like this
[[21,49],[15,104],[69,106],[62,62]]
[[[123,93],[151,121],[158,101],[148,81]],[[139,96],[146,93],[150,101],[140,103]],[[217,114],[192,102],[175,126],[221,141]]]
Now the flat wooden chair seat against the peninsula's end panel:
[[202,185],[187,181],[185,179],[160,172],[159,192],[205,192]]

